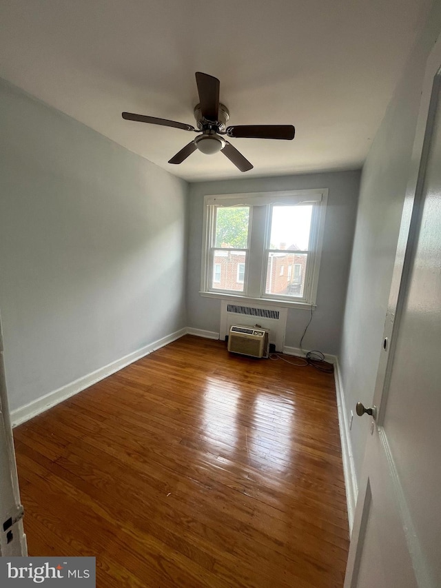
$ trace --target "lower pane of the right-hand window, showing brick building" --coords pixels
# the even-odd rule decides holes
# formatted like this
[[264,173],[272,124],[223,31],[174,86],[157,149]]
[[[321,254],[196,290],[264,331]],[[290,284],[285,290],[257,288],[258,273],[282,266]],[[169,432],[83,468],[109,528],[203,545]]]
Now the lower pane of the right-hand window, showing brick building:
[[[302,298],[305,288],[307,254],[295,251],[269,253],[266,294]],[[287,268],[282,270],[282,268]],[[287,277],[288,276],[288,277]]]

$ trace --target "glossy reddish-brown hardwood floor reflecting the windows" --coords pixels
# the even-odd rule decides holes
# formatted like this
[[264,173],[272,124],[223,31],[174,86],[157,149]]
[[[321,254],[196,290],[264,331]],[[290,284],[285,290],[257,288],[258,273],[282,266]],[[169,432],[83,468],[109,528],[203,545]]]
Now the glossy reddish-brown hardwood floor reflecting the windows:
[[185,336],[14,439],[29,554],[96,556],[99,588],[343,585],[332,374]]

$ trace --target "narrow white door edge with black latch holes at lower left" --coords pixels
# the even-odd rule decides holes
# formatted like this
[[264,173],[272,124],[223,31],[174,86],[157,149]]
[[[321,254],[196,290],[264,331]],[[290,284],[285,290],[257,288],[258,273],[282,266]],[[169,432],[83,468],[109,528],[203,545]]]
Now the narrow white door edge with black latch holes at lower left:
[[3,364],[0,319],[0,556],[27,555]]

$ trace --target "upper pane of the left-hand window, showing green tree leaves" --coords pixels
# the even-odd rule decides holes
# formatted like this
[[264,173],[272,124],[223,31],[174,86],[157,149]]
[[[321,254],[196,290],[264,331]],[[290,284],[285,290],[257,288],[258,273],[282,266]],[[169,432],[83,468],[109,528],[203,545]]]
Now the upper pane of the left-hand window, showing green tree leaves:
[[216,208],[215,247],[246,249],[248,246],[249,206]]

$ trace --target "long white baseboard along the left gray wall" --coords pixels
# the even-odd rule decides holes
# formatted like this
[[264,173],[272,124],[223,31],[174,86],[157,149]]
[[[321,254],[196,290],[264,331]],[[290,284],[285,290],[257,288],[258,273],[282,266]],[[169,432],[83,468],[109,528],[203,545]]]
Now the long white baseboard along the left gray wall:
[[107,378],[107,376],[110,376],[115,372],[119,372],[119,370],[123,369],[123,367],[130,365],[130,363],[134,363],[134,361],[137,361],[141,359],[141,357],[156,351],[156,349],[160,349],[161,347],[172,343],[172,341],[176,341],[176,339],[181,338],[186,333],[187,329],[176,331],[170,335],[158,339],[158,341],[150,343],[150,345],[145,345],[145,347],[141,347],[141,349],[138,349],[137,351],[122,357],[121,359],[117,359],[116,361],[113,361],[112,363],[109,363],[100,369],[96,369],[94,372],[91,372],[86,376],[82,376],[70,384],[54,390],[49,394],[45,394],[45,396],[41,396],[40,398],[37,398],[37,400],[32,401],[27,405],[12,410],[10,414],[12,427],[17,427],[17,425],[25,423],[26,420],[30,420],[30,418],[45,412],[53,406],[65,401],[67,398],[70,398],[70,396],[74,396],[92,384]]

